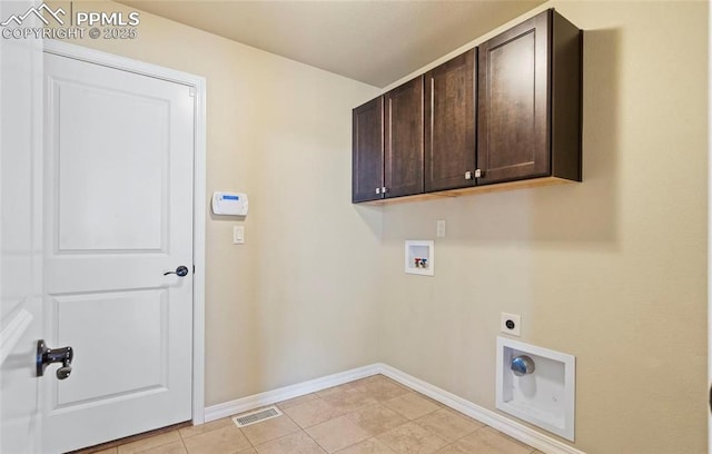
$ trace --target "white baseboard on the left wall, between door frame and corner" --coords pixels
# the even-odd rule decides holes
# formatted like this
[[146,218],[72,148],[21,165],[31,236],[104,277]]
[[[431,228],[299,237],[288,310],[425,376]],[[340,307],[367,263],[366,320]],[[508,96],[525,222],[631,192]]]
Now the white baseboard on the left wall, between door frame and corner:
[[265,405],[271,405],[288,398],[299,397],[332,386],[338,386],[355,379],[380,374],[379,366],[379,364],[372,364],[369,366],[358,367],[338,374],[327,375],[326,377],[315,378],[308,382],[297,383],[296,385],[289,385],[238,398],[224,404],[212,405],[205,409],[205,422],[209,423],[210,421],[233,416]]

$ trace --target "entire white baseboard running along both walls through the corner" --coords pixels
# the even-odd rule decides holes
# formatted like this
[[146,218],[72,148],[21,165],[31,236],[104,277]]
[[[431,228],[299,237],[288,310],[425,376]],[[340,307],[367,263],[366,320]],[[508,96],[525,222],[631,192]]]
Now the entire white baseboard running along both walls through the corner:
[[445,389],[431,385],[419,378],[390,367],[387,364],[376,363],[365,367],[342,372],[339,374],[328,375],[326,377],[310,379],[308,382],[298,383],[296,385],[285,386],[278,389],[268,391],[266,393],[256,394],[254,396],[238,398],[236,401],[226,402],[224,404],[214,405],[205,409],[205,422],[219,420],[236,415],[238,413],[259,408],[260,406],[271,405],[288,398],[299,397],[305,394],[326,389],[332,386],[343,385],[358,378],[368,377],[376,374],[383,374],[402,385],[405,385],[418,393],[447,405],[472,418],[479,421],[511,437],[518,440],[538,451],[547,454],[585,454],[573,446],[552,438],[541,432],[527,427],[516,421],[510,420],[498,413],[492,412],[479,405],[473,404],[462,397],[458,397]]

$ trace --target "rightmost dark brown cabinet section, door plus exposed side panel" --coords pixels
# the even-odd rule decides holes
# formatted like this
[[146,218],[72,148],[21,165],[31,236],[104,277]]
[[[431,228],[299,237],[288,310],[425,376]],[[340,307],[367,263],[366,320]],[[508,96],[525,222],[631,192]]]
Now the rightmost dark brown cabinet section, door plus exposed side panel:
[[582,32],[554,10],[479,45],[477,185],[581,181]]

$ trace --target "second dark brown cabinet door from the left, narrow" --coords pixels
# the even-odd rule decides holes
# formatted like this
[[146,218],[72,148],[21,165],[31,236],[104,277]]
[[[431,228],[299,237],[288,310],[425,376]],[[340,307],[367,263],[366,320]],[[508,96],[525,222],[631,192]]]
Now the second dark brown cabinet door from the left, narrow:
[[423,76],[388,91],[385,101],[386,197],[423,193]]

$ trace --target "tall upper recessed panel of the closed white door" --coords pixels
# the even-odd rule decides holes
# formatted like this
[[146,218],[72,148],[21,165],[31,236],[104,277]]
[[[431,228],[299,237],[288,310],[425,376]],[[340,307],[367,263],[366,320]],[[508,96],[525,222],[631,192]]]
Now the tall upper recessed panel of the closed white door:
[[[63,80],[53,89],[62,119],[58,251],[165,250],[170,103]],[[103,140],[87,144],[87,130]]]

